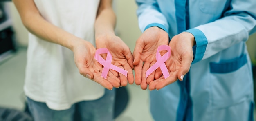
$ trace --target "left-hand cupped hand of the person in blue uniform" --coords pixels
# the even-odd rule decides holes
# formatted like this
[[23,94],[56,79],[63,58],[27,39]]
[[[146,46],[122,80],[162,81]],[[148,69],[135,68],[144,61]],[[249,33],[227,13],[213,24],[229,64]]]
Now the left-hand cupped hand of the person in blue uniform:
[[168,45],[168,41],[168,33],[156,26],[146,29],[136,41],[133,51],[135,83],[140,85],[143,90],[146,90],[148,84],[153,81],[157,75],[161,75],[162,72],[157,69],[146,78],[146,71],[156,62],[158,46]]

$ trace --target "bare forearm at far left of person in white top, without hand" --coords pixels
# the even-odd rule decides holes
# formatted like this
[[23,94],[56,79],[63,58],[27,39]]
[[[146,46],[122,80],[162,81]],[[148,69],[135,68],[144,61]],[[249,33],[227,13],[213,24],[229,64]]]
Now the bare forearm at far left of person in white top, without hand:
[[24,26],[32,34],[42,38],[43,40],[60,44],[73,49],[73,46],[82,39],[64,31],[47,22],[37,10],[33,0],[13,0]]

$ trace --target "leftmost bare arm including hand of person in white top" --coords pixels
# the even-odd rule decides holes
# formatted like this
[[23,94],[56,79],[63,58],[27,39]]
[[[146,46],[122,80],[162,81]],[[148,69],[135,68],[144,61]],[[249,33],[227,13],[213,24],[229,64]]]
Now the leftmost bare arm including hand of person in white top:
[[45,41],[69,48],[74,53],[74,62],[81,75],[109,90],[120,86],[120,79],[112,73],[108,73],[107,79],[101,77],[103,67],[94,59],[96,48],[90,42],[47,22],[40,15],[33,0],[13,0],[13,3],[29,32]]

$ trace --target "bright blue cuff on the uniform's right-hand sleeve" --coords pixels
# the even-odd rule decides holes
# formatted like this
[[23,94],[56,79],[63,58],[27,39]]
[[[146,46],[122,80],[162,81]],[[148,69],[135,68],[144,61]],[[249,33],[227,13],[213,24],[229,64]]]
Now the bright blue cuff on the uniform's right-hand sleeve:
[[199,29],[189,29],[184,32],[189,32],[194,35],[196,45],[193,47],[194,59],[192,64],[199,62],[204,57],[206,46],[208,44],[207,38],[204,33]]

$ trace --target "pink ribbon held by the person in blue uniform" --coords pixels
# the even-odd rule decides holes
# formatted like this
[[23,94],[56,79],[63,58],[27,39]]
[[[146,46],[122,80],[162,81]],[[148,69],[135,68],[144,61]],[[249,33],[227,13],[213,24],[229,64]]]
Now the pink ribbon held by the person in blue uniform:
[[[163,56],[161,56],[161,54],[159,52],[159,51],[162,51],[162,50],[166,50],[167,51]],[[157,62],[146,71],[146,78],[151,73],[153,73],[153,71],[155,71],[158,67],[160,67],[160,69],[161,69],[165,79],[167,77],[169,77],[170,74],[169,74],[168,69],[167,69],[166,65],[164,64],[164,62],[166,62],[167,59],[170,58],[170,56],[171,56],[171,47],[170,46],[168,46],[168,45],[160,45],[160,46],[158,46],[157,54],[156,54]]]

